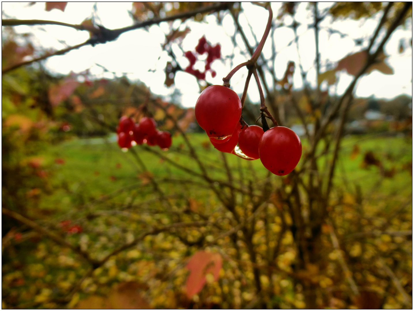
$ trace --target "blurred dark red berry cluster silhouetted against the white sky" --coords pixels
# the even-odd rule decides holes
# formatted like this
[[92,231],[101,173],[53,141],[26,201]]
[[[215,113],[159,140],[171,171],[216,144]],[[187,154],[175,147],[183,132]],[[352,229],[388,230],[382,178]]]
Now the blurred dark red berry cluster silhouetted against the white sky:
[[184,54],[190,62],[190,65],[188,65],[188,67],[185,68],[185,72],[192,74],[197,79],[205,80],[206,72],[210,70],[211,76],[214,78],[216,76],[216,72],[211,69],[210,64],[213,60],[221,57],[220,48],[221,47],[218,43],[215,46],[212,46],[209,42],[207,42],[205,36],[202,36],[198,40],[198,44],[195,47],[195,53],[202,55],[205,52],[207,52],[207,59],[205,60],[204,72],[200,72],[200,70],[193,68],[195,62],[197,61],[197,57],[191,51],[187,51]]

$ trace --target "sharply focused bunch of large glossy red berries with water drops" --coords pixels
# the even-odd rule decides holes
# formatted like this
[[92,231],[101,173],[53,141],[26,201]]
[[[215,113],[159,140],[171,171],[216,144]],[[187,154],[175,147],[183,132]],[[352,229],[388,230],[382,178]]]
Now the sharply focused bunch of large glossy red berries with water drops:
[[275,175],[294,170],[302,155],[299,137],[287,127],[276,126],[266,132],[257,125],[241,121],[241,101],[226,86],[207,87],[195,104],[195,118],[213,146],[247,160],[260,158]]

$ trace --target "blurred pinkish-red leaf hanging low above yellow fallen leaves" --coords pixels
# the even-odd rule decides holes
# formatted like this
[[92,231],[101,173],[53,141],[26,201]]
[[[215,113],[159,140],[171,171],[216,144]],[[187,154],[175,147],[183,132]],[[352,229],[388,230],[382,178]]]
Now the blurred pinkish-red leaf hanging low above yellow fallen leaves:
[[206,283],[206,275],[212,273],[214,280],[219,279],[222,261],[218,253],[197,251],[187,264],[190,275],[187,279],[187,297],[191,298],[199,293]]

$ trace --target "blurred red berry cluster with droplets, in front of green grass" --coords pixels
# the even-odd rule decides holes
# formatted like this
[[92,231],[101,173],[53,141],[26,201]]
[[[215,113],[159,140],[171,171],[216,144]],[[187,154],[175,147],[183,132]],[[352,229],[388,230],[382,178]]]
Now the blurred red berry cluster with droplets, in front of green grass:
[[119,120],[116,129],[118,134],[118,146],[129,149],[132,144],[148,146],[158,145],[162,150],[168,150],[171,146],[171,134],[159,131],[153,118],[143,117],[139,123],[130,117],[123,116]]

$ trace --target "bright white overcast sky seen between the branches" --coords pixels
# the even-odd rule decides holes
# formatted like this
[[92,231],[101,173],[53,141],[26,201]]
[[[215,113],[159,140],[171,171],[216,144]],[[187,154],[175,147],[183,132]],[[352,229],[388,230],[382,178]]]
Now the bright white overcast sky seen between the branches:
[[[28,3],[2,2],[3,18],[47,19],[80,24],[84,19],[91,17],[95,2],[69,2],[65,12],[56,9],[46,12],[45,2],[36,2],[35,5],[30,7]],[[332,2],[321,2],[319,8],[322,10],[330,5],[332,5]],[[274,17],[277,16],[280,6],[280,2],[272,3]],[[302,24],[298,27],[299,53],[303,68],[308,72],[307,79],[310,81],[311,86],[315,87],[316,74],[313,68],[315,60],[314,31],[307,27],[308,24],[312,23],[313,16],[310,11],[306,10],[306,6],[307,2],[301,3],[296,14],[296,19]],[[131,2],[98,2],[97,14],[101,24],[106,28],[121,28],[132,24],[132,18],[128,14],[128,10],[131,10],[131,8]],[[243,2],[242,8],[243,14],[240,16],[240,23],[250,40],[250,44],[253,45],[254,39],[250,34],[246,20],[250,22],[253,31],[260,40],[267,22],[267,11],[248,2]],[[361,19],[360,21],[345,20],[332,22],[330,19],[325,19],[321,22],[320,54],[322,65],[327,60],[336,62],[348,54],[361,50],[361,46],[356,46],[353,39],[370,38],[381,18],[381,14],[376,14],[371,19]],[[291,20],[289,19],[291,18],[285,18],[285,24],[290,24]],[[180,22],[176,21],[173,26],[176,27],[179,24]],[[247,60],[240,53],[241,50],[245,50],[240,35],[236,37],[238,47],[233,50],[230,36],[233,35],[235,27],[233,19],[229,14],[226,14],[222,20],[222,26],[217,24],[216,17],[214,16],[208,16],[203,23],[187,21],[181,25],[182,29],[185,26],[189,26],[191,31],[182,42],[183,50],[194,50],[198,39],[205,35],[212,45],[220,43],[222,56],[235,53],[233,67]],[[81,72],[90,68],[91,74],[94,74],[96,77],[112,78],[112,74],[104,73],[101,67],[95,65],[95,63],[98,63],[110,71],[116,72],[117,76],[122,76],[126,72],[128,78],[141,80],[150,87],[153,93],[161,96],[170,95],[176,87],[182,94],[181,104],[185,107],[194,107],[199,96],[199,87],[195,77],[185,72],[177,72],[175,87],[167,88],[164,86],[164,68],[170,58],[166,52],[161,50],[161,44],[165,41],[165,34],[169,32],[169,27],[168,23],[164,22],[159,26],[149,27],[148,31],[144,29],[129,31],[123,33],[116,41],[99,44],[95,47],[84,46],[79,48],[79,50],[72,50],[65,55],[51,57],[46,61],[45,65],[51,72],[68,74],[71,71]],[[332,27],[349,34],[349,36],[340,38],[338,34],[333,34],[328,40],[328,33],[324,30],[325,27]],[[394,69],[395,74],[385,75],[375,70],[371,74],[363,76],[356,86],[356,96],[375,96],[376,98],[393,98],[400,94],[412,96],[412,48],[409,45],[409,39],[412,38],[412,22],[410,22],[408,28],[406,30],[401,27],[398,28],[385,45],[385,54],[390,55],[386,62]],[[44,48],[55,48],[56,50],[66,47],[58,40],[63,40],[67,45],[71,46],[82,43],[89,38],[89,33],[86,31],[77,31],[64,26],[16,26],[14,29],[18,33],[34,33],[36,37],[35,44]],[[380,34],[380,37],[382,36],[384,36],[384,33]],[[295,44],[287,46],[293,38],[292,29],[286,27],[280,27],[274,32],[277,51],[275,70],[277,78],[282,79],[287,63],[294,61],[296,63],[294,88],[300,89],[303,85],[298,67],[296,46]],[[398,47],[401,39],[404,40],[406,49],[400,54],[398,53]],[[263,49],[263,54],[267,58],[271,55],[270,43],[271,40],[268,38]],[[366,46],[367,43],[364,47]],[[183,57],[181,50],[177,46],[174,48],[174,51],[177,52],[176,55],[181,67],[185,68],[188,65],[187,59]],[[196,63],[195,68],[204,71],[204,62]],[[212,84],[222,84],[221,79],[231,70],[231,63],[228,59],[215,60],[212,63],[212,69],[217,72],[217,76],[212,78],[211,74],[207,74],[206,80]],[[322,66],[321,72],[324,71],[325,67]],[[231,79],[231,88],[239,94],[243,92],[246,74],[247,69],[243,68]],[[272,85],[270,76],[267,77],[267,80],[269,85]],[[337,93],[342,94],[351,81],[352,77],[350,75],[344,72],[340,73]],[[250,83],[248,95],[253,102],[259,102],[257,86],[253,82],[251,81]],[[325,87],[324,84],[322,86]],[[333,87],[329,91],[330,94],[335,93]]]

